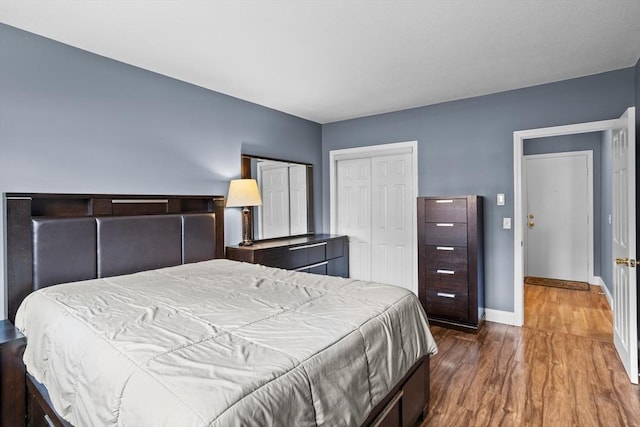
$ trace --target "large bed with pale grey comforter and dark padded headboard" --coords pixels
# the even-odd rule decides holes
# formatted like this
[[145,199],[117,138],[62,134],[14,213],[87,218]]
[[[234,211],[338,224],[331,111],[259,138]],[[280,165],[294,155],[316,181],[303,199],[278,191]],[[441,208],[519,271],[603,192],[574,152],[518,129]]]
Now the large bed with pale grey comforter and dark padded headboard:
[[6,199],[32,425],[424,416],[437,349],[412,294],[221,259],[219,196]]

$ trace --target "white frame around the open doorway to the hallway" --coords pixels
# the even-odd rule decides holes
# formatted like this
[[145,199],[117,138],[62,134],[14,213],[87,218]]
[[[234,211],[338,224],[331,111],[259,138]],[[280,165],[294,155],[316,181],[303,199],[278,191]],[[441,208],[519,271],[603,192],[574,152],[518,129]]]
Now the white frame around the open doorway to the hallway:
[[[618,126],[619,120],[526,129],[513,132],[513,318],[512,325],[524,324],[524,198],[523,198],[523,144],[525,139],[549,136],[604,132]],[[506,320],[506,319],[504,319]],[[636,321],[636,319],[633,319]]]

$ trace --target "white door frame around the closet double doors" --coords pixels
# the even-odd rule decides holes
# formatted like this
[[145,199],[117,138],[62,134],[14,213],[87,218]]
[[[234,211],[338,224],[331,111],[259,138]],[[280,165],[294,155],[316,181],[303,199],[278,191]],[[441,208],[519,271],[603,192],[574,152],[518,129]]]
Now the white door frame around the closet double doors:
[[391,154],[411,154],[412,181],[415,194],[409,197],[411,203],[411,264],[412,283],[411,289],[418,294],[418,218],[417,218],[417,197],[418,197],[418,141],[395,142],[389,144],[369,145],[364,147],[344,148],[329,151],[329,230],[331,234],[337,233],[338,224],[338,167],[337,162],[347,159],[362,159],[368,157],[386,156]]

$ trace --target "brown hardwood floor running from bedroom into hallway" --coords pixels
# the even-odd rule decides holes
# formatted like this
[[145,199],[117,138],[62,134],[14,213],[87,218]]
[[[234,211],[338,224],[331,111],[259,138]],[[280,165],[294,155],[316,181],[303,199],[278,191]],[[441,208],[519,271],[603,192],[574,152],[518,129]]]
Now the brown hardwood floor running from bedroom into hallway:
[[599,287],[525,287],[522,328],[432,326],[426,426],[640,426],[640,388],[618,359]]

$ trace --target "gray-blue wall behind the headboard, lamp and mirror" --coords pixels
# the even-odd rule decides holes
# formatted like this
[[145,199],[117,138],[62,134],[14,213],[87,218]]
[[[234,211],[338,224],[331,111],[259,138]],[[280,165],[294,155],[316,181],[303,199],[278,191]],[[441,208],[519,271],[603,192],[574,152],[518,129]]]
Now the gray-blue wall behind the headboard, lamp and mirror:
[[0,193],[226,195],[245,151],[315,166],[319,230],[320,147],[317,123],[0,24]]

